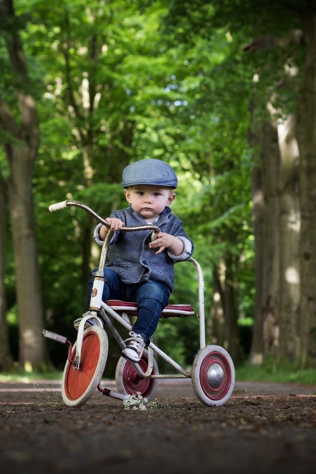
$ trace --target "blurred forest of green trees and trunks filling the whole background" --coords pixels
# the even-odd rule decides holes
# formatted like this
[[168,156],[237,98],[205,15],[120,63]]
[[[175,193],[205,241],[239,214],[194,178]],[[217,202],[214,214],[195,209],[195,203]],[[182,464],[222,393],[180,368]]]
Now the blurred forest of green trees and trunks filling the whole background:
[[[62,368],[40,330],[74,339],[84,311],[95,222],[49,204],[106,217],[141,158],[178,174],[207,343],[316,365],[315,20],[309,0],[0,0],[1,370]],[[191,267],[171,302],[197,308]],[[197,337],[193,319],[157,330],[184,365]]]

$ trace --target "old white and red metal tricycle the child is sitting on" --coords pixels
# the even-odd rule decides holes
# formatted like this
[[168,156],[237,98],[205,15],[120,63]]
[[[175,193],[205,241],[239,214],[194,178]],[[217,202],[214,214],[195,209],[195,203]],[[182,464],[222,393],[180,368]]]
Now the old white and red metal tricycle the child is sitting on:
[[[109,227],[109,224],[90,207],[80,201],[65,200],[49,206],[51,212],[65,207],[77,206],[90,214],[98,222]],[[122,227],[120,232],[148,231],[158,234],[158,227],[148,224],[137,227]],[[203,274],[200,265],[194,258],[191,262],[198,273],[198,313],[191,305],[167,305],[161,314],[164,317],[197,316],[199,321],[199,350],[194,358],[192,370],[182,368],[176,361],[161,351],[154,344],[153,338],[138,363],[132,363],[120,357],[116,368],[117,391],[101,387],[101,378],[108,356],[108,336],[111,331],[120,347],[125,343],[118,332],[116,325],[121,325],[128,331],[132,325],[129,316],[136,316],[137,304],[124,301],[102,301],[104,272],[106,272],[106,258],[113,231],[110,230],[102,246],[98,272],[93,280],[90,307],[82,315],[79,322],[77,341],[72,343],[64,336],[55,334],[46,329],[42,336],[64,345],[68,345],[68,359],[62,378],[62,397],[66,405],[78,407],[83,405],[98,389],[103,395],[125,400],[131,395],[141,395],[147,401],[153,399],[159,379],[191,379],[197,398],[208,406],[223,405],[232,395],[235,384],[235,368],[231,356],[227,351],[216,345],[205,346],[204,296]],[[183,263],[181,263],[183,265]],[[100,317],[104,324],[101,322]],[[87,319],[93,319],[96,324],[86,329]],[[116,325],[115,325],[116,323]],[[104,326],[104,327],[103,327]],[[176,374],[162,375],[158,372],[158,364],[154,353],[167,361]]]

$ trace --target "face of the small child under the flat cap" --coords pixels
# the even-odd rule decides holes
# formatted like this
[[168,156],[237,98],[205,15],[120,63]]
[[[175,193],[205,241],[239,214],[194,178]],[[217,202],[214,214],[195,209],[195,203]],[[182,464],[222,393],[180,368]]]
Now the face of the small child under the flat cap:
[[170,188],[140,184],[125,189],[125,197],[134,211],[141,214],[147,222],[151,222],[165,206],[171,204],[176,195]]

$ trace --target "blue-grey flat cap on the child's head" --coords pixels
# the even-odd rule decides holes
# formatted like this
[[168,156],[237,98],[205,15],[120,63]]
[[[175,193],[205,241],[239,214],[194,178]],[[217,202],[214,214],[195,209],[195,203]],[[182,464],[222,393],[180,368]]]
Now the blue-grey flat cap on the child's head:
[[123,169],[123,188],[137,184],[176,188],[178,180],[173,168],[160,159],[147,158],[135,161]]

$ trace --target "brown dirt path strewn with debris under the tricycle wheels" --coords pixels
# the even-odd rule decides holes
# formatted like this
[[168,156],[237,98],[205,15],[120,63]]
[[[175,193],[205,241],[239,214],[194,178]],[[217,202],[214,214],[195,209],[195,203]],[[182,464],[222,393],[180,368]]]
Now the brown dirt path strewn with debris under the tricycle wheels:
[[131,411],[98,391],[79,408],[55,403],[46,382],[0,383],[3,474],[315,472],[316,386],[236,382],[210,408],[189,380],[165,380],[158,407]]

